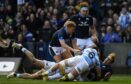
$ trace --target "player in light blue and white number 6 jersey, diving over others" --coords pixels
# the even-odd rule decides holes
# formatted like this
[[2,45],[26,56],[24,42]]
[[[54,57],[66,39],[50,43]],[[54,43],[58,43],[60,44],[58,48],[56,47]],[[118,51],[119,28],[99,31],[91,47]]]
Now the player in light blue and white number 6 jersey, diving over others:
[[[72,68],[72,70],[67,74],[65,73],[66,67]],[[65,59],[55,64],[53,67],[51,67],[49,70],[44,72],[42,75],[43,75],[43,79],[47,80],[48,76],[52,75],[54,72],[60,69],[61,75],[64,75],[60,80],[71,81],[84,73],[88,74],[88,72],[92,68],[96,69],[97,76],[99,77],[100,76],[100,61],[99,61],[98,53],[93,48],[86,48],[84,49],[81,56],[75,56],[75,57]],[[82,81],[85,81],[85,80],[82,80]]]

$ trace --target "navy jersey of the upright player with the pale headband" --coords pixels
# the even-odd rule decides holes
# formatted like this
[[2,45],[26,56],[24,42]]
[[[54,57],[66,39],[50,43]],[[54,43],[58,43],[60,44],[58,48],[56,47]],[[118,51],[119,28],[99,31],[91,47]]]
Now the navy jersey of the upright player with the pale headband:
[[93,18],[89,15],[83,17],[81,14],[72,16],[69,20],[76,23],[75,36],[76,38],[88,38],[89,27],[93,25]]

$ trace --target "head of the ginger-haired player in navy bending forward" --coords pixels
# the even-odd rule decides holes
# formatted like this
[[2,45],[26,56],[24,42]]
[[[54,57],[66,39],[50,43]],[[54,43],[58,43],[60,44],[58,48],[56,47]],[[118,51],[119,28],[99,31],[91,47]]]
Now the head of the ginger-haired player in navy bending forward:
[[75,26],[76,24],[73,21],[66,21],[64,24],[64,27],[66,28],[66,31],[69,34],[72,34],[74,32]]

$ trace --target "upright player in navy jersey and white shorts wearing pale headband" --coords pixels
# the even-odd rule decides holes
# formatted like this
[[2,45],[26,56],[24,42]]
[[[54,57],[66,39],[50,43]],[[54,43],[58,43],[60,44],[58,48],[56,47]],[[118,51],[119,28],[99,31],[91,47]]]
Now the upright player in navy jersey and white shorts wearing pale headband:
[[[69,20],[76,23],[75,36],[77,38],[77,45],[81,49],[85,46],[92,46],[94,41],[98,41],[93,18],[89,15],[88,6],[81,6],[79,14],[71,17]],[[90,38],[90,36],[93,38]]]

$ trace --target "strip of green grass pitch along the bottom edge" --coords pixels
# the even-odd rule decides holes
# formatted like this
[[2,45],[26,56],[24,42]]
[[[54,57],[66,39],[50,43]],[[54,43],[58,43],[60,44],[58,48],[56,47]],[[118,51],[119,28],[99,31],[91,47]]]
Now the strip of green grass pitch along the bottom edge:
[[115,75],[112,76],[109,82],[58,82],[58,81],[42,81],[42,80],[27,80],[12,78],[6,79],[5,76],[0,76],[0,84],[131,84],[131,75]]

